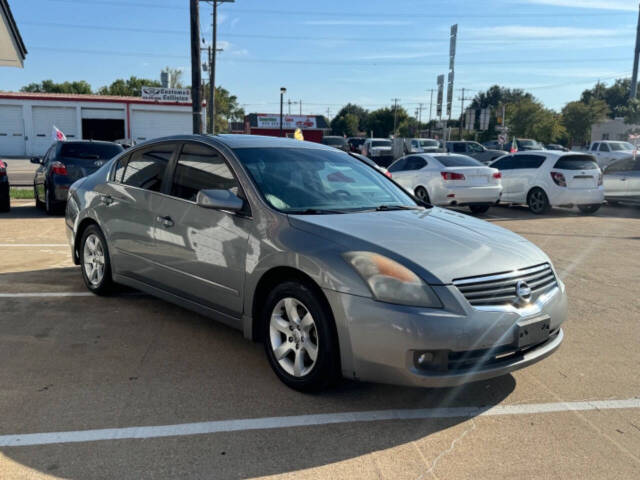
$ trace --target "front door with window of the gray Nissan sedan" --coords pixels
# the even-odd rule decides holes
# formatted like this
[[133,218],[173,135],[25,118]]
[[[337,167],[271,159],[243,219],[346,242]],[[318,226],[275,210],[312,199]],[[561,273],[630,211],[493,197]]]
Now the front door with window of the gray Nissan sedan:
[[248,212],[199,207],[200,190],[231,190],[240,184],[220,152],[185,143],[169,195],[154,205],[154,263],[159,280],[176,294],[233,316],[242,314]]

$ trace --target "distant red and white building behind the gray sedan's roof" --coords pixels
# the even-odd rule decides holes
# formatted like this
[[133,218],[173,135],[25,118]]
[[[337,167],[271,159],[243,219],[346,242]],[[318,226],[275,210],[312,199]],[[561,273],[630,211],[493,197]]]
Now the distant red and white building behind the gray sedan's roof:
[[[319,143],[331,130],[322,115],[283,115],[282,119],[282,136],[284,137],[293,137],[296,128],[299,128],[305,140]],[[250,113],[244,117],[244,133],[269,137],[280,136],[280,114]]]

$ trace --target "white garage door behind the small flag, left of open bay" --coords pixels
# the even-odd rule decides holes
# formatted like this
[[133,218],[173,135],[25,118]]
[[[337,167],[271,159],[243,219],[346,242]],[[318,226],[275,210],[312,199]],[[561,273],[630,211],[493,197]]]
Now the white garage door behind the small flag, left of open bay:
[[75,107],[33,107],[33,155],[43,155],[51,146],[54,125],[69,140],[79,138]]

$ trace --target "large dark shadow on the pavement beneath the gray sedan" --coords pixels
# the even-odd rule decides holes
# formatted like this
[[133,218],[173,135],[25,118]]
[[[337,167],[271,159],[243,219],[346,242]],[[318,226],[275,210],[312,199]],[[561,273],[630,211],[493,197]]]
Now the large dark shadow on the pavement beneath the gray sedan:
[[[78,267],[0,274],[0,291],[18,292],[37,281],[40,292],[86,292],[79,276]],[[262,346],[241,332],[129,293],[0,298],[0,362],[9,378],[25,378],[20,370],[28,369],[28,381],[16,382],[3,402],[7,421],[0,435],[395,409],[475,407],[480,413],[516,385],[511,375],[443,389],[344,380],[322,393],[302,394],[276,378]],[[410,444],[468,419],[324,424],[2,453],[69,479],[246,478]]]

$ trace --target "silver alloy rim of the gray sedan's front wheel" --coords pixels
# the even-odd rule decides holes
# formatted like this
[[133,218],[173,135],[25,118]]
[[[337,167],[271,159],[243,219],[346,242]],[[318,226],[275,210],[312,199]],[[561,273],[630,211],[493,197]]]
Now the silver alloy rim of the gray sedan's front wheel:
[[273,356],[289,375],[304,377],[316,365],[318,331],[309,309],[286,297],[271,312],[269,339]]

